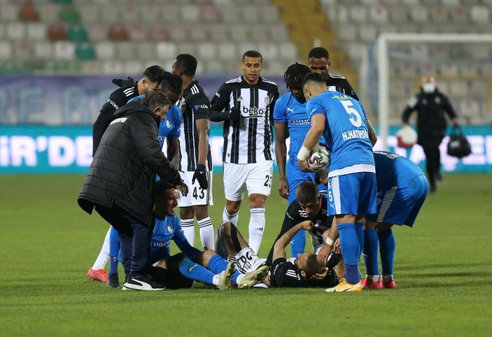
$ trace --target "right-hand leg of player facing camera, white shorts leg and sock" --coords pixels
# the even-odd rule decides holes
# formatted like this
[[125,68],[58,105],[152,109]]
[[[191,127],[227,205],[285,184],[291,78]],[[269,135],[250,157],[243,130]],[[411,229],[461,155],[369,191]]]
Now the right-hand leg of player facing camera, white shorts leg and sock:
[[258,254],[265,231],[265,202],[272,191],[273,162],[248,164],[251,170],[246,179],[249,203],[249,246]]

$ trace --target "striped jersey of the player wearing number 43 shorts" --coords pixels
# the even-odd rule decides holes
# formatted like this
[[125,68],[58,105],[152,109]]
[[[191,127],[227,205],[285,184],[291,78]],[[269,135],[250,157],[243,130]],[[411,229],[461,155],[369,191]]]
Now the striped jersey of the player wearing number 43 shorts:
[[[183,91],[183,96],[176,103],[183,113],[181,121],[181,136],[179,136],[179,171],[195,171],[198,163],[198,131],[196,120],[202,118],[209,119],[210,101],[204,89],[198,85],[198,81],[193,81]],[[206,155],[206,167],[212,170],[212,157],[210,145]]]

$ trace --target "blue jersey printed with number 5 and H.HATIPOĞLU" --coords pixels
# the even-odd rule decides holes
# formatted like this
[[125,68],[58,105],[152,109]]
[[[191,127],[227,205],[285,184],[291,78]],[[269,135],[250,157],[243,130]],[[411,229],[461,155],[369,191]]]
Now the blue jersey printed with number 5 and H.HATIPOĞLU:
[[339,92],[323,92],[307,102],[309,120],[326,117],[323,137],[331,152],[330,177],[374,172],[374,155],[367,116],[360,103]]

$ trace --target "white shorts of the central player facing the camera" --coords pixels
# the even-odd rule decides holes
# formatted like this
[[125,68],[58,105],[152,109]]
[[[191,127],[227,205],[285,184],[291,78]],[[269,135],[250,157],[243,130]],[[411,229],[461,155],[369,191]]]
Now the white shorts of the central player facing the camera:
[[272,160],[255,164],[224,163],[225,199],[240,201],[246,190],[249,195],[258,193],[269,196],[273,167]]

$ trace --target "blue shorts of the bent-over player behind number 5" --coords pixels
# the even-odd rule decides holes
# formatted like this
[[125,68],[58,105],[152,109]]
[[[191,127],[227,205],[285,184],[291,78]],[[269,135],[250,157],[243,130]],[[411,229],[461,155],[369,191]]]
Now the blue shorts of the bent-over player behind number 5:
[[377,194],[377,213],[366,215],[367,220],[413,227],[417,214],[429,192],[425,175],[418,175],[402,186]]

